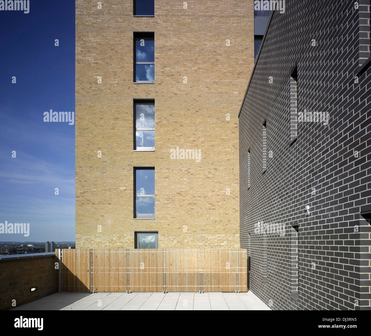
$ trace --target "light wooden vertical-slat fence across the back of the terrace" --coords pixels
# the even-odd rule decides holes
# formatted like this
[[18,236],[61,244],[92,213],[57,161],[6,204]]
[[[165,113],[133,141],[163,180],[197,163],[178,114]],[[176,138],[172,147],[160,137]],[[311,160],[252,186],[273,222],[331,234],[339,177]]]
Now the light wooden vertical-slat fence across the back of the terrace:
[[246,292],[246,249],[62,249],[64,292]]

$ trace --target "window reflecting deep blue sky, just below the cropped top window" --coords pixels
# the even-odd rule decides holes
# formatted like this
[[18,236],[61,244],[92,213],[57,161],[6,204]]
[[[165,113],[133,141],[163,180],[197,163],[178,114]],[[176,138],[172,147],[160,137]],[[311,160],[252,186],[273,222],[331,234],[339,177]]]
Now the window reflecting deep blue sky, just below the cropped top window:
[[155,81],[155,37],[154,33],[134,33],[134,83]]

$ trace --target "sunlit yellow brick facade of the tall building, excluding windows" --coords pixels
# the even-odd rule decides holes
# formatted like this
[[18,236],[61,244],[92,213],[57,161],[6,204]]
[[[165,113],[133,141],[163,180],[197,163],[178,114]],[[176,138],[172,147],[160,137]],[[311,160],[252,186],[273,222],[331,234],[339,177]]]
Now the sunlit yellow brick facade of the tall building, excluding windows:
[[[239,247],[253,1],[155,0],[154,17],[101,2],[76,0],[76,248],[133,248],[135,230],[158,231],[159,248]],[[155,84],[133,84],[134,31],[154,32]],[[133,152],[133,98],[155,99],[155,152]],[[201,161],[170,159],[177,146]],[[155,167],[155,220],[133,219],[134,166]]]

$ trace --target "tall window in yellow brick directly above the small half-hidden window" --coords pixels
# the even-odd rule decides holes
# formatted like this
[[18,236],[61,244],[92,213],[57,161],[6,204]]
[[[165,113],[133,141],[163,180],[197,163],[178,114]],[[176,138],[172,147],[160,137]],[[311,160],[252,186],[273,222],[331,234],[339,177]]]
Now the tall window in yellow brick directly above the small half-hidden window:
[[134,218],[155,219],[154,167],[134,167]]

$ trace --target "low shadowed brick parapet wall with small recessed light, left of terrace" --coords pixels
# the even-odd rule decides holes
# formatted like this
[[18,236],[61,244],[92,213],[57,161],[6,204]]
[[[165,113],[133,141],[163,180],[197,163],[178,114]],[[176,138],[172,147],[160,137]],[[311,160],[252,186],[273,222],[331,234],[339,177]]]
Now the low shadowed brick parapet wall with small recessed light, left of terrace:
[[[0,261],[0,310],[19,307],[58,291],[53,255]],[[31,287],[37,287],[30,292]],[[12,303],[15,301],[15,306]]]

